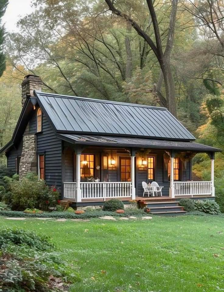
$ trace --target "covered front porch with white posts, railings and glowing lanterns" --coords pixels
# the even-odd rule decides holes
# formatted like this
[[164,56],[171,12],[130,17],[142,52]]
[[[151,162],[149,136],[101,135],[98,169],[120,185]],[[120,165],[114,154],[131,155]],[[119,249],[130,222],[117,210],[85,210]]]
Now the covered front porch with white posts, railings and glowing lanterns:
[[[165,145],[160,149],[155,145],[154,148],[96,147],[74,145],[67,140],[63,149],[62,197],[77,203],[111,198],[142,200],[142,181],[147,184],[156,181],[163,187],[162,197],[150,194],[144,200],[214,197],[214,152],[180,149],[178,142],[175,145],[177,149],[164,149]],[[191,158],[198,152],[206,152],[210,157],[209,181],[192,181]]]

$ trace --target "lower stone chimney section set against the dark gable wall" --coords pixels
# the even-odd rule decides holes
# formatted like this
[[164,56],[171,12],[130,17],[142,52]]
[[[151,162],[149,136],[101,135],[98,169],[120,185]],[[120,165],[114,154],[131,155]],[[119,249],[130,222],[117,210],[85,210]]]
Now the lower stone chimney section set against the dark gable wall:
[[19,178],[29,172],[37,173],[37,137],[35,134],[23,136],[23,150],[19,164]]

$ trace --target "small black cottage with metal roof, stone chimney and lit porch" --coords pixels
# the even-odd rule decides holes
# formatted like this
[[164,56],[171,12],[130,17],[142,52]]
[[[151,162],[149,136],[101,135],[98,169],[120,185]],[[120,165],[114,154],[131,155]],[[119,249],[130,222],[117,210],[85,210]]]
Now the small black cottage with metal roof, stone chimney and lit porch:
[[[37,172],[79,205],[140,199],[142,182],[152,181],[166,198],[215,196],[219,149],[194,143],[166,108],[44,93],[41,83],[25,77],[19,121],[0,151],[20,177]],[[198,152],[211,159],[210,181],[192,181],[191,159]]]

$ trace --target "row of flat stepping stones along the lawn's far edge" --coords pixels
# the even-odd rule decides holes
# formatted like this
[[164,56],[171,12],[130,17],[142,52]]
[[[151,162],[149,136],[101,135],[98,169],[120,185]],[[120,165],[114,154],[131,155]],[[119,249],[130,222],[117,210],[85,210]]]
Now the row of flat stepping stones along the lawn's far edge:
[[[152,217],[150,216],[145,216],[145,217],[134,217],[134,216],[129,216],[129,217],[120,217],[120,218],[114,218],[113,216],[103,216],[103,217],[99,217],[100,219],[105,219],[105,220],[114,220],[116,221],[116,219],[119,220],[129,220],[129,219],[142,219],[142,220],[149,220],[152,219]],[[8,220],[25,220],[25,219],[39,219],[39,220],[54,220],[55,218],[35,218],[35,217],[5,217],[4,219],[8,219]],[[65,219],[65,218],[57,218],[55,219],[55,221],[59,221],[59,222],[65,222],[67,220],[71,220],[71,221],[75,221],[75,222],[89,222],[90,219],[79,219],[79,218],[75,218],[75,219]]]

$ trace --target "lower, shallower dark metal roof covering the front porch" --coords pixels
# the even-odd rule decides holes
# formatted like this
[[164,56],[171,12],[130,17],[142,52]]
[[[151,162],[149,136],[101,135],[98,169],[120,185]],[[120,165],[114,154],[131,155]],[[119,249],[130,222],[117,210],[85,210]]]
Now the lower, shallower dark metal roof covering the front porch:
[[181,142],[169,140],[154,140],[144,138],[128,138],[116,136],[95,136],[95,135],[75,135],[58,134],[62,140],[82,145],[95,146],[126,146],[126,147],[148,147],[154,149],[178,149],[192,150],[197,152],[219,152],[221,149],[198,144],[194,142]]

